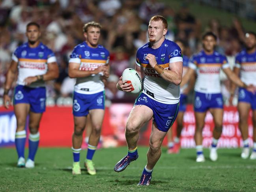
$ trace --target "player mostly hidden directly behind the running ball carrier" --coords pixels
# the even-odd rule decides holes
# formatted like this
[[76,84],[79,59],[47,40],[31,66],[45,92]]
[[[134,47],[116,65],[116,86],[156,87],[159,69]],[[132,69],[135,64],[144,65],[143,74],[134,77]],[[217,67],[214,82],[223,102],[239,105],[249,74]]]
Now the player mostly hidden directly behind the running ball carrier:
[[[185,52],[185,42],[182,40],[176,40],[175,43],[181,48],[181,52]],[[183,55],[183,76],[187,72],[189,68],[189,58]],[[187,108],[187,94],[194,86],[195,78],[194,76],[191,77],[189,83],[183,85],[182,81],[180,84],[180,102],[179,102],[179,113],[177,116],[177,129],[176,129],[176,136],[173,138],[172,134],[172,127],[167,132],[167,139],[168,139],[168,150],[167,153],[179,153],[180,149],[180,136],[181,130],[183,128],[183,116]]]

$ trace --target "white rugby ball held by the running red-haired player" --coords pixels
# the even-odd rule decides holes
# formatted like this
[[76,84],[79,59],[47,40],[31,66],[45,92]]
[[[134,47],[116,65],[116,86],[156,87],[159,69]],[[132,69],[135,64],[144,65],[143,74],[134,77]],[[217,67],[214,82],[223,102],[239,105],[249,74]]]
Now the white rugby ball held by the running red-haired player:
[[122,73],[122,80],[128,80],[127,83],[131,83],[131,93],[140,93],[142,89],[142,79],[140,75],[132,68],[127,68]]

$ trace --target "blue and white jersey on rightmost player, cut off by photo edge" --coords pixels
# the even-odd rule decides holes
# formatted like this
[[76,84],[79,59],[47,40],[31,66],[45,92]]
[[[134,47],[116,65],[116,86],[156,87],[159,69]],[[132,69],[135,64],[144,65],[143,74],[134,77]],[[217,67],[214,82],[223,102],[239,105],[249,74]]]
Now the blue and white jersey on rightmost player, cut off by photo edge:
[[256,52],[241,51],[235,57],[235,67],[240,68],[240,77],[245,84],[256,86]]

